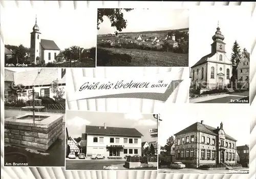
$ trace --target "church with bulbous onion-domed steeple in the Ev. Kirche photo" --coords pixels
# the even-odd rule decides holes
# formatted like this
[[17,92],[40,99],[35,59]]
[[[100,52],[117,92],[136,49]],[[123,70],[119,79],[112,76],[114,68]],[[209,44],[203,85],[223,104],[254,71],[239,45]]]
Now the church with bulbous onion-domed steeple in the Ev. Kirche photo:
[[211,53],[191,66],[191,82],[194,85],[207,85],[211,89],[228,85],[232,75],[232,63],[226,56],[226,44],[219,27],[212,40]]

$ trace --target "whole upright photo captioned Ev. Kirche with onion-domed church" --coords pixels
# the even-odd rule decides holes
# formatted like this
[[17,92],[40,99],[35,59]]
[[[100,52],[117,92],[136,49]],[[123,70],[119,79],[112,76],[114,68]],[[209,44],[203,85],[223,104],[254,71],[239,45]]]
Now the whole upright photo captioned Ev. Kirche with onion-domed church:
[[190,10],[190,103],[249,104],[249,17],[247,7]]

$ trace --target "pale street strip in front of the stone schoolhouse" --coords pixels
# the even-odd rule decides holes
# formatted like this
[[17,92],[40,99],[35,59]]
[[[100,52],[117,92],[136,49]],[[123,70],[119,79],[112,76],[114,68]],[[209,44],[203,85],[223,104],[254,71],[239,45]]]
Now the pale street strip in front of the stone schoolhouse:
[[158,169],[159,173],[218,173],[218,174],[225,174],[225,173],[249,173],[249,168],[240,168],[240,169],[233,169],[233,170],[200,170],[195,168],[184,168],[184,169]]

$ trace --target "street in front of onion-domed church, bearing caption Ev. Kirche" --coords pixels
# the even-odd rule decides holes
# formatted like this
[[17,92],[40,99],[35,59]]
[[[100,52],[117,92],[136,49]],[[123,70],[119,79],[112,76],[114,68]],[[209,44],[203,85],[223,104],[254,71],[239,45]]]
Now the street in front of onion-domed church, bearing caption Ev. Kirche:
[[219,95],[208,95],[189,99],[189,103],[245,103],[237,99],[248,100],[249,103],[249,91],[241,93],[230,93],[230,94],[219,94]]

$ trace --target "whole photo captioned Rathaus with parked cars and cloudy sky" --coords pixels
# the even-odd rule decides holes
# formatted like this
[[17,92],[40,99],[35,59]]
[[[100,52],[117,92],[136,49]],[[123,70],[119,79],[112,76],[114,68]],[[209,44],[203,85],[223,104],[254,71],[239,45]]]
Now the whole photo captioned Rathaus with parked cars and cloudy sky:
[[156,170],[158,115],[67,111],[67,170]]

